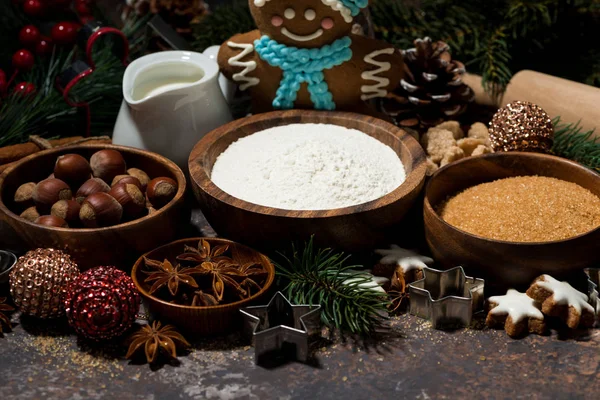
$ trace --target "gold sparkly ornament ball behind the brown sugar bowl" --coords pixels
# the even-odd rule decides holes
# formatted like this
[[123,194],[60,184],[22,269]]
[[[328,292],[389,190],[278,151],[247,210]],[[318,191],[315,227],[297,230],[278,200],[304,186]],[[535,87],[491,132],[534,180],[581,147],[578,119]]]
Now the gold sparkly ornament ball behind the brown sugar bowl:
[[494,114],[490,141],[494,151],[548,153],[554,142],[554,126],[541,107],[527,101],[513,101]]

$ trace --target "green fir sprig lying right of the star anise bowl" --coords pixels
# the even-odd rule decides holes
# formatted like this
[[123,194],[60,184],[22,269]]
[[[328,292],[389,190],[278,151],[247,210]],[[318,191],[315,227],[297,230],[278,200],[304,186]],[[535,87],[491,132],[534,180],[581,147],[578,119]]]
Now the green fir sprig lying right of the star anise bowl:
[[357,266],[347,265],[349,256],[315,249],[311,238],[302,251],[292,245],[291,256],[281,257],[275,266],[285,285],[282,292],[292,303],[320,304],[325,325],[367,336],[385,320],[389,302],[379,292],[361,287],[370,281],[370,275],[351,273]]

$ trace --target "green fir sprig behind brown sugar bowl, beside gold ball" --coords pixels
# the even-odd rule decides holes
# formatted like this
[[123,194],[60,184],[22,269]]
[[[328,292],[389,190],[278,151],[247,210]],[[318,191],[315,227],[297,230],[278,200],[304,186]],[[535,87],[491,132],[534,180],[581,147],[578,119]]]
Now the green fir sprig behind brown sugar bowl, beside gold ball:
[[600,139],[593,136],[594,129],[583,131],[579,122],[561,123],[560,117],[556,117],[552,123],[554,124],[552,147],[554,154],[600,172]]

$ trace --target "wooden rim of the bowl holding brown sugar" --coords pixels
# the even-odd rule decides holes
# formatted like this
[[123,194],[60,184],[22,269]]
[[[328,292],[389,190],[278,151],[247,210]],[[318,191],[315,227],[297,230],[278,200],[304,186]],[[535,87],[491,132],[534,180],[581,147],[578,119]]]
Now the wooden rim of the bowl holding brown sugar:
[[[463,158],[461,160],[452,162],[450,164],[447,164],[445,166],[443,166],[442,168],[438,169],[429,179],[429,182],[427,182],[427,186],[425,188],[425,201],[423,202],[423,207],[431,214],[434,216],[434,218],[436,218],[439,222],[441,222],[446,228],[450,228],[452,230],[457,231],[458,233],[465,235],[469,238],[472,238],[474,240],[481,240],[481,241],[485,241],[485,242],[489,242],[489,243],[495,243],[498,245],[511,245],[511,246],[547,246],[547,245],[554,245],[554,244],[564,244],[564,243],[568,243],[570,241],[575,241],[578,239],[581,239],[582,237],[585,237],[587,235],[591,235],[594,232],[597,232],[598,230],[600,230],[600,226],[598,226],[597,228],[592,229],[591,231],[587,231],[584,233],[581,233],[577,236],[572,236],[566,239],[561,239],[561,240],[551,240],[551,241],[547,241],[547,242],[511,242],[508,240],[498,240],[498,239],[490,239],[490,238],[486,238],[483,236],[479,236],[479,235],[475,235],[473,233],[469,233],[466,231],[463,231],[460,228],[457,228],[454,225],[449,224],[448,222],[444,221],[444,219],[437,213],[437,211],[435,211],[435,209],[431,206],[431,203],[429,202],[429,187],[430,185],[432,185],[432,182],[438,178],[438,176],[440,174],[443,174],[444,171],[454,168],[457,165],[460,164],[464,164],[464,163],[468,163],[468,162],[473,162],[475,159],[479,159],[479,158],[483,158],[483,159],[488,159],[488,158],[502,158],[502,157],[514,157],[514,158],[523,158],[523,159],[528,159],[528,158],[539,158],[539,159],[545,159],[547,162],[549,163],[556,163],[556,164],[570,164],[571,166],[581,170],[582,172],[593,176],[594,179],[598,180],[598,183],[600,184],[600,174],[592,171],[591,169],[579,164],[578,162],[569,160],[567,158],[563,158],[563,157],[557,157],[557,156],[553,156],[550,154],[542,154],[542,153],[533,153],[533,152],[518,152],[518,151],[509,151],[509,152],[498,152],[498,153],[488,153],[488,154],[481,154],[478,156],[471,156],[471,157],[466,157]],[[519,175],[519,176],[532,176],[532,175]],[[544,175],[539,175],[539,176],[544,176]],[[576,182],[571,182],[571,183],[576,183]],[[472,187],[472,186],[470,186]],[[588,189],[589,190],[589,189]],[[455,193],[456,194],[456,193]],[[597,196],[598,197],[598,196]]]

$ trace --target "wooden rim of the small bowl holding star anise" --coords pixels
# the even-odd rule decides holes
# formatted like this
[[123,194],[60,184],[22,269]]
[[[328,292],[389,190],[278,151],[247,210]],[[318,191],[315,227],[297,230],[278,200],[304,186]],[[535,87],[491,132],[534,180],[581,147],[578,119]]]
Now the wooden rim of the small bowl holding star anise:
[[[239,246],[246,250],[249,250],[253,253],[256,253],[256,254],[260,255],[263,259],[265,259],[267,261],[267,263],[268,263],[267,265],[269,267],[266,268],[268,276],[267,276],[267,280],[265,281],[265,285],[262,287],[262,289],[256,293],[254,293],[252,296],[248,297],[247,299],[242,299],[242,300],[236,301],[234,303],[219,304],[216,306],[186,306],[183,304],[169,303],[168,301],[159,299],[158,297],[153,296],[150,293],[148,293],[148,291],[146,289],[144,289],[143,285],[141,285],[138,282],[138,279],[136,276],[137,271],[138,271],[138,269],[140,269],[140,266],[142,265],[142,262],[144,261],[144,257],[146,257],[148,254],[152,253],[153,251],[162,250],[166,247],[171,247],[171,246],[176,246],[176,245],[181,245],[181,244],[189,244],[189,242],[198,243],[202,239],[207,240],[209,242],[212,241],[212,242],[218,242],[218,243],[234,244],[236,246]],[[233,240],[223,239],[223,238],[215,238],[215,237],[193,237],[193,238],[175,240],[171,243],[167,243],[167,244],[159,246],[155,249],[152,249],[152,250],[146,252],[145,254],[143,254],[142,256],[140,256],[140,258],[137,259],[135,264],[133,264],[133,268],[131,268],[131,279],[133,280],[135,287],[142,294],[142,296],[149,298],[153,301],[156,301],[157,303],[160,303],[164,306],[180,308],[180,309],[187,309],[187,310],[224,310],[224,309],[238,308],[238,307],[241,308],[245,304],[253,301],[254,299],[256,299],[259,296],[262,296],[264,293],[266,293],[271,288],[271,285],[273,285],[273,282],[275,281],[275,266],[273,265],[273,262],[271,261],[271,259],[269,257],[267,257],[266,255],[264,255],[263,253],[261,253],[257,250],[254,250],[253,248],[243,245],[241,243],[234,242]]]

